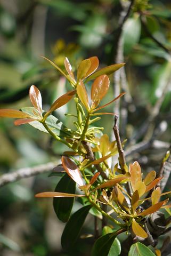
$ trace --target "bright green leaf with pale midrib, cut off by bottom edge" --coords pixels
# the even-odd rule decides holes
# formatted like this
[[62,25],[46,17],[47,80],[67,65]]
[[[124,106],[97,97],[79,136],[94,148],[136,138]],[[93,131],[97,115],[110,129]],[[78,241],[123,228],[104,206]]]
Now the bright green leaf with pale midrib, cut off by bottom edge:
[[155,256],[155,254],[144,244],[137,242],[129,250],[128,256]]

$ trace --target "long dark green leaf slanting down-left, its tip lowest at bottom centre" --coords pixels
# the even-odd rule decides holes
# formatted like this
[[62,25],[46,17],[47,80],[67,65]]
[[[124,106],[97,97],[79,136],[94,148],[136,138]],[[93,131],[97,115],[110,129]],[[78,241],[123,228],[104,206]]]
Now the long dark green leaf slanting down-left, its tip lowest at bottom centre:
[[61,244],[63,249],[69,251],[75,246],[75,243],[80,234],[80,230],[83,227],[84,221],[91,207],[91,205],[86,205],[71,215],[61,237]]

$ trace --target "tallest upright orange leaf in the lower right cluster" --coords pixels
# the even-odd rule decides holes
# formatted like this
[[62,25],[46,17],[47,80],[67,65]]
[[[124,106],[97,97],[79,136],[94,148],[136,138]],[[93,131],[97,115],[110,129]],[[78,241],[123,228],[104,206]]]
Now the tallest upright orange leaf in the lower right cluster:
[[[135,188],[135,185],[138,181],[141,181],[141,167],[140,164],[135,161],[132,165],[132,167],[129,169],[131,174],[131,185],[133,188],[133,191],[135,191],[137,188]],[[140,195],[140,194],[139,194]]]

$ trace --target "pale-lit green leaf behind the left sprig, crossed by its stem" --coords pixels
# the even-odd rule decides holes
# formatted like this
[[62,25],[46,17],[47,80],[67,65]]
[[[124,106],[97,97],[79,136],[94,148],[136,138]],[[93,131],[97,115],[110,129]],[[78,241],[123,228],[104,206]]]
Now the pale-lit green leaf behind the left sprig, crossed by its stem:
[[[27,107],[27,108],[21,108],[21,110],[30,115],[34,115],[33,111],[35,110],[35,108]],[[45,127],[43,126],[43,124],[38,121],[34,121],[29,124],[35,127],[36,129],[38,129],[39,131],[48,133]],[[50,115],[46,118],[46,124],[50,129],[52,129],[53,133],[55,133],[59,137],[65,137],[66,135],[71,134],[69,131],[65,130],[66,126],[64,126],[64,124],[53,115]]]

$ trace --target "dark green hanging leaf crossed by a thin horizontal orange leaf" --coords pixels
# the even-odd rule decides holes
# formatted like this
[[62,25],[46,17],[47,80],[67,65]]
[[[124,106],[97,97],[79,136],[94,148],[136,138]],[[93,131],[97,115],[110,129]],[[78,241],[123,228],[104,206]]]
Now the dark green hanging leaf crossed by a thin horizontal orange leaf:
[[[76,182],[72,180],[68,174],[65,174],[55,188],[55,192],[75,194]],[[67,222],[69,220],[74,197],[53,198],[53,209],[59,220]]]

